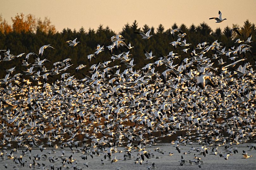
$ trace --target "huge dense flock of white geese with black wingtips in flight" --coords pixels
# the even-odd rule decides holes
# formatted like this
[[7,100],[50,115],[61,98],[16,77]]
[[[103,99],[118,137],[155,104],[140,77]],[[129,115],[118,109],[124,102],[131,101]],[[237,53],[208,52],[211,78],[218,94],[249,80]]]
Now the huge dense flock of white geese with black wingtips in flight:
[[[219,15],[210,19],[224,21],[220,11]],[[231,34],[233,31],[240,34],[238,28],[232,29]],[[147,33],[134,33],[142,36],[141,41],[152,37],[150,29]],[[182,155],[183,145],[199,144],[192,147],[189,154],[202,154],[202,159],[186,161],[182,155],[180,166],[190,163],[201,167],[203,157],[208,154],[226,160],[232,154],[241,154],[245,159],[252,157],[237,148],[240,143],[255,143],[256,73],[245,55],[251,52],[251,36],[247,40],[236,40],[228,50],[218,40],[188,48],[191,44],[186,42],[186,33],[180,29],[172,30],[170,36],[174,38],[170,45],[175,49],[178,46],[184,53],[190,51],[190,58],[180,60],[180,56],[171,51],[136,70],[129,54],[130,49],[136,47],[126,45],[122,35],[115,35],[107,46],[110,60],[91,65],[90,75],[83,74],[83,79],[76,79],[75,75],[89,66],[81,64],[75,68],[76,74],[70,75],[70,58],[53,63],[47,70],[44,64],[50,61],[43,52],[54,50],[50,44],[42,46],[38,55],[27,54],[22,59],[24,71],[21,73],[14,74],[15,67],[5,69],[6,76],[0,79],[0,161],[11,159],[15,164],[5,167],[16,169],[54,169],[54,164],[58,170],[88,167],[88,163],[84,167],[76,166],[72,155],[53,157],[49,153],[47,157],[44,150],[48,146],[68,147],[72,152],[82,153],[84,160],[87,156],[100,155],[103,165],[105,159],[111,164],[120,159],[141,164],[150,161],[153,156],[149,148],[164,138],[175,139],[170,144],[177,152],[170,156]],[[77,38],[66,43],[72,48],[79,44]],[[114,55],[113,50],[120,46],[126,50]],[[104,50],[104,46],[98,45],[87,59],[90,62]],[[144,50],[144,59],[157,58],[153,53]],[[0,50],[1,62],[24,54],[15,56],[9,49]],[[29,63],[32,56],[35,62]],[[223,58],[232,63],[225,64]],[[120,71],[120,65],[113,65],[114,61],[124,64],[125,70]],[[162,73],[155,71],[160,66],[166,68]],[[48,77],[57,75],[61,75],[61,79],[49,83]],[[31,81],[37,85],[32,86]],[[226,151],[218,150],[220,146],[225,146]],[[256,149],[253,143],[248,147]],[[120,148],[125,151],[123,158],[115,156],[121,152]],[[42,155],[33,155],[34,149],[40,149]],[[164,154],[160,148],[156,150]],[[19,153],[20,156],[13,155]],[[51,165],[37,163],[41,157]],[[31,159],[33,163],[29,163]],[[157,167],[157,162],[151,164],[148,169]]]

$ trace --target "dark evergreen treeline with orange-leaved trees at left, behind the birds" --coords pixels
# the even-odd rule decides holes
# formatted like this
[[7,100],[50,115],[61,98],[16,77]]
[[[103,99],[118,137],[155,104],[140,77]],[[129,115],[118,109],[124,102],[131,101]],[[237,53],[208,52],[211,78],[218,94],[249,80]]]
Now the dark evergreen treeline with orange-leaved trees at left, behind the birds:
[[[200,25],[195,26],[186,26],[182,24],[178,26],[176,23],[173,24],[171,28],[165,29],[162,24],[158,26],[158,28],[151,27],[151,34],[153,37],[148,40],[142,40],[141,36],[138,34],[134,34],[133,32],[147,32],[150,26],[144,25],[142,28],[138,27],[137,21],[134,21],[132,24],[125,24],[122,32],[114,32],[109,27],[103,27],[99,25],[97,30],[89,29],[85,31],[83,27],[80,30],[71,30],[69,28],[63,29],[61,32],[56,32],[54,25],[51,24],[48,18],[45,18],[44,21],[41,19],[35,19],[32,15],[24,16],[23,14],[17,15],[15,18],[12,18],[13,25],[8,25],[8,23],[0,16],[0,50],[10,49],[10,53],[13,55],[18,55],[21,53],[25,53],[22,57],[16,58],[10,62],[1,61],[1,68],[11,68],[12,66],[16,66],[16,71],[26,70],[24,66],[21,66],[22,62],[20,60],[24,60],[26,54],[29,52],[35,52],[38,54],[38,50],[42,45],[51,44],[54,49],[45,50],[44,57],[46,57],[51,63],[46,63],[47,69],[51,69],[54,62],[58,62],[64,60],[66,58],[71,58],[73,67],[69,69],[67,72],[73,74],[75,73],[75,68],[84,64],[86,66],[92,65],[97,62],[109,61],[111,60],[111,52],[106,48],[106,46],[110,43],[110,38],[113,35],[121,34],[125,38],[125,43],[131,43],[131,46],[134,46],[130,50],[130,54],[134,58],[134,63],[136,63],[135,68],[142,68],[145,64],[149,62],[154,62],[154,59],[150,61],[146,61],[143,50],[149,51],[150,49],[153,52],[155,60],[157,60],[160,55],[167,56],[170,51],[174,51],[181,55],[179,60],[184,58],[189,58],[188,54],[185,54],[182,49],[184,47],[177,47],[175,50],[170,43],[174,41],[170,32],[172,29],[181,28],[182,32],[186,32],[187,36],[185,37],[187,43],[191,43],[189,47],[189,51],[195,49],[195,46],[198,43],[209,42],[212,43],[215,40],[221,42],[223,46],[226,46],[226,50],[229,47],[237,46],[237,43],[234,43],[236,39],[240,38],[240,40],[247,40],[250,34],[252,34],[253,43],[250,45],[252,54],[246,53],[246,57],[251,64],[255,64],[253,61],[253,54],[256,52],[256,44],[255,44],[255,25],[248,20],[244,22],[243,26],[233,25],[232,27],[239,27],[241,36],[237,33],[233,33],[232,37],[229,36],[229,30],[232,27],[227,26],[224,30],[217,28],[216,30],[212,30],[205,22],[202,22]],[[77,41],[80,43],[74,48],[68,47],[68,44],[65,43],[68,40],[73,40],[77,38]],[[101,52],[96,56],[96,59],[92,59],[92,63],[88,64],[87,55],[93,54],[97,47],[97,44],[104,45],[105,51]],[[114,54],[118,54],[121,51],[127,51],[125,48],[120,48],[118,50],[114,50]],[[2,56],[3,58],[3,56]],[[2,60],[2,59],[1,59]],[[33,60],[31,57],[29,60]],[[177,62],[179,62],[177,60]],[[231,63],[231,60],[223,55],[223,62]],[[30,62],[31,63],[31,62]],[[114,65],[111,63],[110,66]],[[216,63],[217,65],[217,63]],[[124,66],[125,68],[125,66]],[[159,71],[162,71],[159,68]],[[88,74],[89,67],[86,67],[81,73]],[[5,76],[5,72],[0,73],[0,77],[3,78]],[[83,76],[78,73],[76,78],[80,79]]]

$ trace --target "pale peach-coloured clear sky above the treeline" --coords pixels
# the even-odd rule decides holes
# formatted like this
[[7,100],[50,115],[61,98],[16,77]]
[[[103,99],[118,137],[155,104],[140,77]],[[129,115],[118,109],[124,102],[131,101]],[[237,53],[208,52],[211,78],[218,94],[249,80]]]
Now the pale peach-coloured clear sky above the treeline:
[[[218,27],[223,30],[232,24],[243,26],[247,19],[256,23],[255,6],[256,0],[1,0],[0,14],[9,24],[17,13],[48,17],[59,32],[67,27],[78,31],[82,26],[87,31],[102,24],[118,33],[134,20],[139,27],[147,24],[157,28],[162,24],[165,29],[175,22],[189,27],[204,21],[213,30]],[[222,23],[209,20],[218,17],[219,10],[227,20]]]

